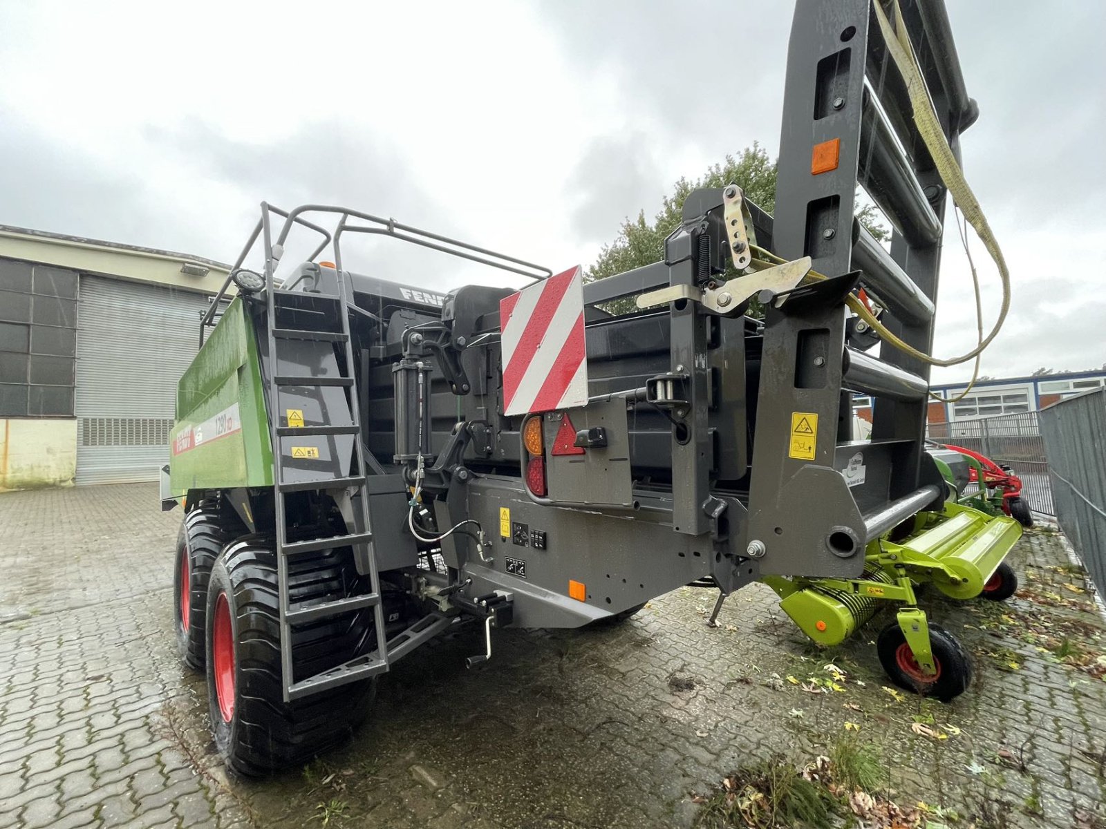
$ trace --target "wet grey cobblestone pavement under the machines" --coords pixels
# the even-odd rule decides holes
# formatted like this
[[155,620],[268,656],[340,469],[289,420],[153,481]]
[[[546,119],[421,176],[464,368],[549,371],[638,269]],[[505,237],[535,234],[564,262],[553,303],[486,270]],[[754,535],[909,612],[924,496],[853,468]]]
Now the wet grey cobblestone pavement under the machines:
[[[1055,533],[1015,549],[1010,602],[927,597],[975,661],[951,705],[884,690],[889,616],[820,651],[766,588],[717,629],[713,595],[684,588],[618,628],[501,631],[483,670],[463,667],[474,636],[416,652],[351,746],[257,783],[227,778],[202,680],[175,657],[179,521],[149,485],[0,495],[0,827],[688,826],[689,793],[751,758],[813,757],[854,737],[846,722],[883,747],[897,800],[956,809],[953,826],[1106,821],[1106,625]],[[804,691],[831,661],[844,690]]]

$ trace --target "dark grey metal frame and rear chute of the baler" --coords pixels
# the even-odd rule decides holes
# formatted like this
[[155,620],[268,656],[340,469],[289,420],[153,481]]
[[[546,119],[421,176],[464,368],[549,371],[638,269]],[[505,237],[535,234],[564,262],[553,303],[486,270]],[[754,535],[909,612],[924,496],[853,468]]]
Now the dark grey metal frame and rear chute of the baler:
[[[977,108],[964,93],[943,4],[901,6],[958,150]],[[774,217],[747,204],[743,229],[784,260],[810,258],[804,270],[828,279],[765,294],[763,321],[745,316],[745,303],[722,308],[707,301],[750,279],[728,270],[740,251],[727,210],[740,191],[692,192],[661,261],[584,287],[592,399],[572,417],[582,431],[602,427],[604,440],[575,466],[550,458],[551,487],[542,497],[524,483],[524,418],[502,413],[499,301],[511,291],[470,285],[439,297],[358,276],[344,269],[342,240],[380,234],[534,280],[551,272],[355,210],[262,206],[232,270],[261,239],[268,300],[253,305],[259,338],[272,354],[286,301],[273,291],[274,270],[289,233],[321,233],[311,259],[330,246],[334,267],[304,265],[301,275],[312,279],[282,293],[322,287],[342,297],[348,350],[341,359],[354,378],[349,422],[361,440],[353,471],[346,461],[335,476],[358,473],[367,482],[343,510],[357,535],[351,543],[358,569],[374,580],[377,571],[403,574],[407,589],[434,607],[400,633],[378,633],[374,672],[461,619],[483,620],[490,654],[494,626],[578,627],[682,585],[726,596],[765,575],[858,577],[868,542],[940,503],[943,484],[924,451],[928,369],[887,346],[874,356],[878,339],[844,304],[867,287],[884,304],[887,326],[929,349],[946,189],[909,112],[870,1],[799,0]],[[839,139],[836,168],[812,174],[813,145],[832,139]],[[894,225],[889,252],[855,219],[858,183]],[[337,227],[332,232],[305,214],[336,216]],[[274,216],[283,219],[279,233]],[[604,311],[666,290],[680,298],[632,315]],[[201,342],[218,307],[217,300]],[[263,368],[270,378],[276,371]],[[283,403],[275,385],[270,391],[275,450],[273,413]],[[854,393],[874,398],[870,441],[852,438]],[[813,458],[789,451],[795,413],[816,416]],[[559,414],[540,417],[549,443]],[[849,486],[842,471],[857,453],[866,476]],[[438,534],[461,522],[479,532],[435,544],[413,537],[395,516],[406,517],[416,480],[420,521],[432,521]],[[570,580],[586,585],[584,600],[567,595]],[[304,693],[351,679],[337,670]]]

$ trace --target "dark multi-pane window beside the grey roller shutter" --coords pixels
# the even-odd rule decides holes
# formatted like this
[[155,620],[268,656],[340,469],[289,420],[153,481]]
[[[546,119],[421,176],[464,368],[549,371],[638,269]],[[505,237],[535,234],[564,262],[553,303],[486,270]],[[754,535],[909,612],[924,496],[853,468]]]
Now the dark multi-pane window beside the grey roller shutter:
[[77,276],[0,259],[0,417],[73,417]]

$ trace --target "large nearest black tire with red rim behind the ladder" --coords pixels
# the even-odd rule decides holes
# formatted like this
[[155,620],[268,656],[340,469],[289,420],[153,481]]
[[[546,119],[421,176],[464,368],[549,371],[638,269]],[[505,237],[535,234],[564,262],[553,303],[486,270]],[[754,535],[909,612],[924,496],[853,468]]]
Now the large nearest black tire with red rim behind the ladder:
[[[348,549],[289,562],[290,600],[362,591]],[[216,562],[207,597],[208,700],[216,748],[239,775],[261,777],[303,765],[348,739],[364,720],[375,679],[283,701],[276,557],[269,539],[243,538]],[[375,647],[373,609],[296,626],[293,679],[301,680]]]

